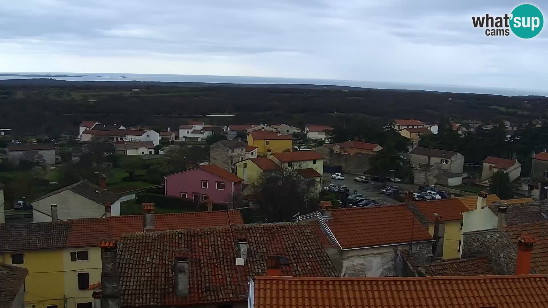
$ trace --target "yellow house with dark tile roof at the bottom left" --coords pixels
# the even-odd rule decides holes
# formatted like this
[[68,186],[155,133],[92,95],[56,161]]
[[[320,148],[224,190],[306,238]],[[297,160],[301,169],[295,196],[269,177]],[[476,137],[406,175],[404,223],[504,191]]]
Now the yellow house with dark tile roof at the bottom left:
[[68,299],[62,253],[69,231],[66,222],[0,224],[0,262],[28,270],[25,307],[70,307],[65,306]]

